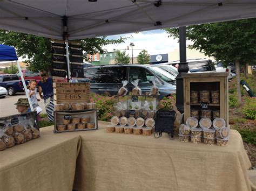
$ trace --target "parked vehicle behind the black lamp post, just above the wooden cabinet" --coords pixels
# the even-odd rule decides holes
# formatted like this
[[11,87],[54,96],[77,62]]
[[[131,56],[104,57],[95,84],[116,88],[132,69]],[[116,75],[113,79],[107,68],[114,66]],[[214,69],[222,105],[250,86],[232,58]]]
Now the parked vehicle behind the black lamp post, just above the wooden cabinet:
[[[163,63],[164,65],[172,65],[175,67],[177,63],[180,61],[172,61],[172,62],[166,62]],[[191,59],[187,60],[187,65],[189,67],[188,73],[194,73],[194,72],[216,72],[214,64],[212,60],[210,59]]]

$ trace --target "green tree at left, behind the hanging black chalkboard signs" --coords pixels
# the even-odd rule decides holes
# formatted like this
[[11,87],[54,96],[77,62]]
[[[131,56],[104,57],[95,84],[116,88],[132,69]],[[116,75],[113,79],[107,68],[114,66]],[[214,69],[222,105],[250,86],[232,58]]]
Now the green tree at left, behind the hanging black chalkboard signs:
[[[123,43],[125,38],[117,40],[106,39],[106,37],[82,39],[83,51],[93,54],[103,53],[102,46],[107,44]],[[51,68],[51,42],[49,38],[38,37],[31,34],[19,33],[14,31],[0,30],[0,43],[14,46],[17,56],[26,59],[29,69],[36,71],[39,69],[50,70]]]

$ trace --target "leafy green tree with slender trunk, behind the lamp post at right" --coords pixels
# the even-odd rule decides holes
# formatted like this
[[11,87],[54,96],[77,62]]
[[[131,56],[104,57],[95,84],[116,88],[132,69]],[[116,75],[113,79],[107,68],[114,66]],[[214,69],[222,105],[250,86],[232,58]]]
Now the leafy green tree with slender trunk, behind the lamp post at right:
[[[170,36],[179,38],[179,29],[165,29]],[[186,27],[190,48],[198,49],[227,66],[235,63],[238,101],[241,104],[240,65],[256,60],[256,19],[233,20]]]

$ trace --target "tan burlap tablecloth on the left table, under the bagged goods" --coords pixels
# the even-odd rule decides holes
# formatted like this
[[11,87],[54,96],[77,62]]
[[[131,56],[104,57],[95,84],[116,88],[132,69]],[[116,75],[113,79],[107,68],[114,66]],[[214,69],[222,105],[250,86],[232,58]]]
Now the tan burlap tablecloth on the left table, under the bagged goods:
[[0,190],[72,190],[80,136],[52,130],[0,151]]

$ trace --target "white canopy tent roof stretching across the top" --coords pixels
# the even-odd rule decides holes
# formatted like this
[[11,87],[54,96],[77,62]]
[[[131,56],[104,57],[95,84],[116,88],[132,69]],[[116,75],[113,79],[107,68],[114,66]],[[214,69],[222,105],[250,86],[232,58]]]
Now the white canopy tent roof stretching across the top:
[[73,40],[256,17],[255,0],[89,1],[2,0],[0,26]]

